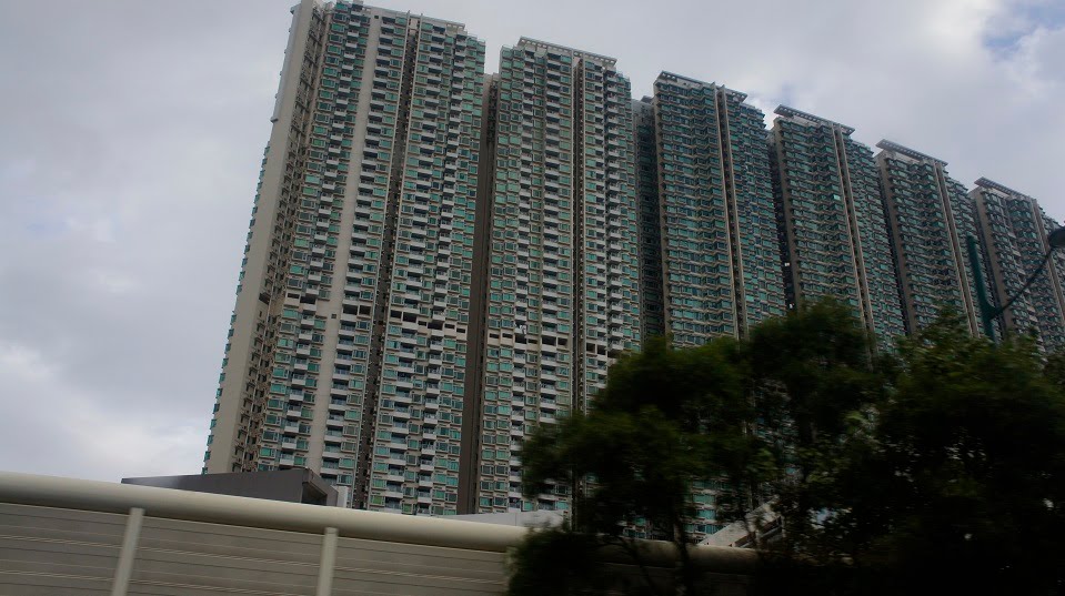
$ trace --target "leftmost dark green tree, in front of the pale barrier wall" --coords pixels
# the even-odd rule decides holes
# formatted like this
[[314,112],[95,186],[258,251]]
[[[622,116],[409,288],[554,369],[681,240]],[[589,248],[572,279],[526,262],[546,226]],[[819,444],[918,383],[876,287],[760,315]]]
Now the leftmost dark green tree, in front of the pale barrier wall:
[[[525,443],[525,492],[539,494],[549,483],[580,485],[572,531],[595,536],[600,546],[625,549],[637,565],[640,553],[626,528],[686,546],[693,483],[716,475],[721,466],[752,466],[768,457],[761,440],[747,432],[753,407],[742,370],[739,345],[731,340],[693,350],[671,350],[663,339],[647,342],[641,353],[626,354],[611,367],[586,414],[542,426]],[[555,535],[560,545],[573,543],[565,534]],[[679,553],[677,585],[691,590],[687,550]],[[532,565],[535,553],[520,554],[519,567]],[[644,588],[654,585],[647,580]],[[512,584],[511,594],[526,593]]]

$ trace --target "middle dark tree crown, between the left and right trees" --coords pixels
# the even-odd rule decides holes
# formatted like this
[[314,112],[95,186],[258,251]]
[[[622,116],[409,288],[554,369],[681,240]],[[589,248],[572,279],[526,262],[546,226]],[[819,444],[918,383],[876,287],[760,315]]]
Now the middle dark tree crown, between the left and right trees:
[[[785,453],[763,487],[786,522],[788,538],[776,545],[784,552],[835,549],[825,541],[834,528],[820,513],[836,499],[832,473],[867,448],[873,413],[887,393],[890,366],[875,345],[851,307],[831,300],[766,321],[745,342],[760,428]],[[811,533],[818,541],[804,539]]]

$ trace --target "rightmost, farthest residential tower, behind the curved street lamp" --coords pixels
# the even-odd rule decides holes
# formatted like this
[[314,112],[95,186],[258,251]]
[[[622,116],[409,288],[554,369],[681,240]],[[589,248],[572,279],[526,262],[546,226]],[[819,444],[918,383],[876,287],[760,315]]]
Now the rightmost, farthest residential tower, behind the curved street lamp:
[[[1035,199],[982,178],[971,191],[976,202],[981,235],[991,264],[994,302],[1004,304],[1017,294],[1049,249],[1047,233],[1058,228]],[[1046,271],[1003,313],[1005,331],[1034,331],[1041,347],[1065,347],[1065,255],[1051,255]]]

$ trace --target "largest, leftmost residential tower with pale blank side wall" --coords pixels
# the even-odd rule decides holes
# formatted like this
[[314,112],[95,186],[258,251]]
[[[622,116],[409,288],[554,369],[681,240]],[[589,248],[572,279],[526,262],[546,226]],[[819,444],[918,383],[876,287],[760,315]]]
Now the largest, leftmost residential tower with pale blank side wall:
[[459,23],[293,9],[205,472],[456,513],[483,68]]

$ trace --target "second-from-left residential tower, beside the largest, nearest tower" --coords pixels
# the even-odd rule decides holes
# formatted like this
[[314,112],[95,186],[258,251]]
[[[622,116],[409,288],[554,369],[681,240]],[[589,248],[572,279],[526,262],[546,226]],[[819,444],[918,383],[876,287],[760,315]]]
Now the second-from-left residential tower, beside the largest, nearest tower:
[[522,38],[502,50],[495,93],[470,496],[478,513],[564,509],[569,486],[522,496],[521,445],[583,410],[612,357],[640,345],[631,92],[612,58]]

